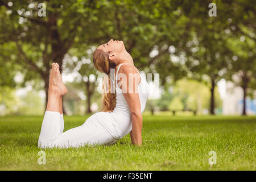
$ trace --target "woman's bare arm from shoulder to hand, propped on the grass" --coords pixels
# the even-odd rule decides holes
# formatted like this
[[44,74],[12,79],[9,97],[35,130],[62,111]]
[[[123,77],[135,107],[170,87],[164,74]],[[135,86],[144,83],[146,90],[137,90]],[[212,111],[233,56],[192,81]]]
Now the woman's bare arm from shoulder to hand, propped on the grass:
[[[122,74],[119,74],[122,73]],[[141,146],[142,144],[142,114],[141,102],[139,101],[138,84],[141,77],[131,65],[122,65],[119,70],[121,81],[118,85],[122,91],[131,111],[132,131],[130,132],[131,143]],[[123,78],[123,77],[126,77]],[[130,78],[130,81],[129,81]]]

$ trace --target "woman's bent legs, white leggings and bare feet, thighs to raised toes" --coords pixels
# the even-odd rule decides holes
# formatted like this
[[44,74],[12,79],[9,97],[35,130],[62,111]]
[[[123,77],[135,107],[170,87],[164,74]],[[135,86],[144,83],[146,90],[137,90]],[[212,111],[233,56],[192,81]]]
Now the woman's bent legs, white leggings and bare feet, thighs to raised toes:
[[68,148],[80,147],[84,144],[112,144],[115,142],[117,139],[98,122],[97,117],[101,116],[97,116],[97,114],[88,118],[84,125],[62,133],[60,122],[61,96],[67,93],[67,89],[63,88],[65,86],[61,80],[59,67],[52,65],[47,110],[44,115],[38,146],[40,148]]

